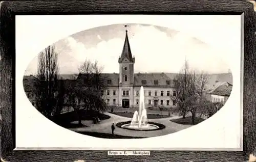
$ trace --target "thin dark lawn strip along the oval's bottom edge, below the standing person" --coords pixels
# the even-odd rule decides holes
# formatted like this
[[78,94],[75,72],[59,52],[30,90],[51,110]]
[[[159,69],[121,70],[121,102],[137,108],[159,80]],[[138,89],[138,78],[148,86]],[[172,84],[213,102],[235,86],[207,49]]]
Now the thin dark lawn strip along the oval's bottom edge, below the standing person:
[[130,137],[130,136],[121,136],[118,134],[110,134],[110,133],[99,133],[99,132],[89,132],[89,131],[76,131],[77,133],[104,138],[104,139],[142,139],[143,137]]

